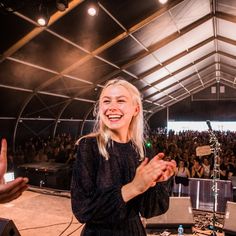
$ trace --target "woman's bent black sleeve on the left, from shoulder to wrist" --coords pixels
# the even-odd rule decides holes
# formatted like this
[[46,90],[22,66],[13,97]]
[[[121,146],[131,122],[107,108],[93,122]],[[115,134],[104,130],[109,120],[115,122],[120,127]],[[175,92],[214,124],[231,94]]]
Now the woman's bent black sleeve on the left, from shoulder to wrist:
[[81,140],[71,183],[72,211],[81,223],[116,222],[126,215],[121,186],[96,186],[98,158],[93,145]]

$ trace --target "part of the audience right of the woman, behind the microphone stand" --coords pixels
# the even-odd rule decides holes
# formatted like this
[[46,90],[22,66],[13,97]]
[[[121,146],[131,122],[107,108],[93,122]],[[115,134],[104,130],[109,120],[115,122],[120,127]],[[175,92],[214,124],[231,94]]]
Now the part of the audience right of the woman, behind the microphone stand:
[[[236,132],[216,131],[220,143],[220,179],[229,180],[236,175]],[[197,156],[196,149],[210,144],[207,131],[174,132],[157,129],[148,142],[156,153],[164,152],[177,163],[176,175],[191,178],[212,178],[214,154]]]

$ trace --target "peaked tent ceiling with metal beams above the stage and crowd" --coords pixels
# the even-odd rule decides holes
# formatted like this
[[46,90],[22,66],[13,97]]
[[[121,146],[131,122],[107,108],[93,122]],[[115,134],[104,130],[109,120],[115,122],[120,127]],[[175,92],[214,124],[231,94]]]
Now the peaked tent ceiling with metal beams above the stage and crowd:
[[148,114],[216,82],[235,88],[234,0],[101,0],[96,17],[88,0],[64,12],[48,0],[47,27],[35,22],[39,2],[0,1],[2,119],[91,119],[117,76],[138,87]]

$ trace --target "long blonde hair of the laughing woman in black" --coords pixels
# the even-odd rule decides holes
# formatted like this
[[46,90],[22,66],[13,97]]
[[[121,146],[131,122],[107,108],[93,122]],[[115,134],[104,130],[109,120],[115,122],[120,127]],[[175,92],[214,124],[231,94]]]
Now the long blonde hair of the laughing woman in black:
[[[136,103],[136,105],[139,107],[138,114],[136,116],[133,116],[131,120],[129,126],[129,134],[131,137],[131,142],[138,154],[140,155],[140,159],[142,160],[144,158],[144,121],[141,95],[134,85],[120,78],[109,80],[105,84],[103,90],[112,85],[121,85],[126,88],[131,94],[133,102]],[[96,122],[94,125],[93,132],[84,137],[96,137],[100,154],[104,156],[105,159],[108,159],[109,154],[107,152],[106,147],[109,144],[109,140],[111,140],[111,133],[109,132],[109,128],[102,122],[102,119],[100,119],[99,101],[101,99],[101,94],[94,109],[94,114],[96,115]]]

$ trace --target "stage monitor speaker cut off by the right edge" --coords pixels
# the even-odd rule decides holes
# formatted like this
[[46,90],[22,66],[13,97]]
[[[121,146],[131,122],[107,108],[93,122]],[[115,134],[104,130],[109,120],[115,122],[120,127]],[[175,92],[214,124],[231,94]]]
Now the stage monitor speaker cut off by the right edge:
[[225,235],[236,235],[236,202],[227,201],[223,230]]

